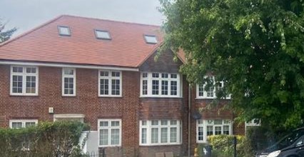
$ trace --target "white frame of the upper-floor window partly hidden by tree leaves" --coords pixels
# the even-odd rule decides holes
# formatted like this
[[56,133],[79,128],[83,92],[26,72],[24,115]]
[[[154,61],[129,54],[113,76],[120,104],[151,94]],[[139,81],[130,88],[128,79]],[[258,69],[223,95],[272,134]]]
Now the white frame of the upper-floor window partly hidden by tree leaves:
[[[205,87],[206,87],[206,83],[203,84],[203,96],[200,96],[200,87],[201,85],[200,84],[196,84],[196,98],[204,98],[204,99],[208,99],[208,98],[217,98],[216,97],[216,88],[223,88],[224,86],[224,82],[223,81],[220,81],[219,83],[221,83],[221,87],[216,87],[215,84],[216,84],[216,81],[215,81],[215,78],[214,76],[205,76],[204,78],[207,78],[207,77],[212,77],[213,78],[213,96],[207,96],[207,91],[205,90]],[[230,99],[231,98],[231,95],[229,94],[228,96],[226,96],[226,99]]]

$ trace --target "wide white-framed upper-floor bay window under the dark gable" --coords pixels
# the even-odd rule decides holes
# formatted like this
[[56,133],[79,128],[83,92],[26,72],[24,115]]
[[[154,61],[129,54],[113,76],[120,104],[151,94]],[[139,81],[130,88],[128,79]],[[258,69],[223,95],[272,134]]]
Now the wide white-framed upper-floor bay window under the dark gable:
[[141,73],[142,97],[181,97],[179,74]]

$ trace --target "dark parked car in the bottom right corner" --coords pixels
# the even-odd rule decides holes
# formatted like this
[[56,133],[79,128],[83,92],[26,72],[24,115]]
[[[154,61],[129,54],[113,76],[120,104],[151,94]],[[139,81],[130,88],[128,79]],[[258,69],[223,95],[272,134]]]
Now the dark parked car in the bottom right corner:
[[255,157],[304,157],[304,127],[295,129]]

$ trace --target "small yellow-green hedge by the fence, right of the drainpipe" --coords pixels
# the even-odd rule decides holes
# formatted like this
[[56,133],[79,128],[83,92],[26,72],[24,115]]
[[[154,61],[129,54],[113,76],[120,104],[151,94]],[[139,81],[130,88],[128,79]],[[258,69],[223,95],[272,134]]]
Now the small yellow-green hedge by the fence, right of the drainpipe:
[[[250,142],[245,136],[236,136],[237,138],[237,156],[240,157],[252,157],[253,150],[250,146]],[[213,157],[231,157],[233,156],[233,136],[219,135],[208,136],[208,144],[212,146]],[[206,144],[198,144],[198,155],[203,156],[203,147]]]

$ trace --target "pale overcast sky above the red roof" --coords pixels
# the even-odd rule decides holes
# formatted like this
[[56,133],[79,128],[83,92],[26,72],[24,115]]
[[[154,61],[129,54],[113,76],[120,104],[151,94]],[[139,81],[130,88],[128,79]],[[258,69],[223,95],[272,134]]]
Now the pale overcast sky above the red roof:
[[0,18],[14,36],[61,14],[161,25],[158,0],[0,0]]

